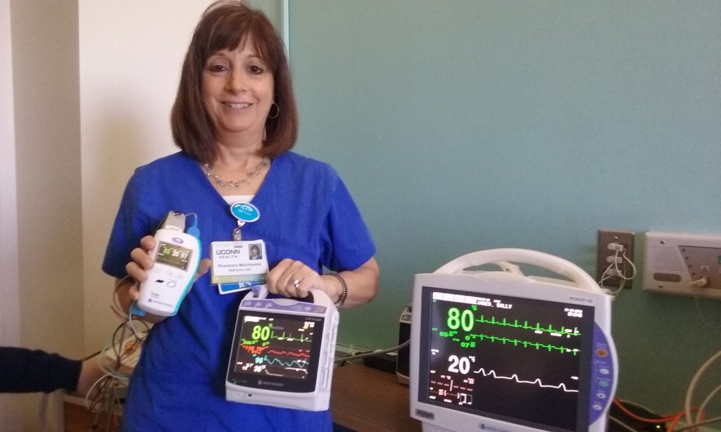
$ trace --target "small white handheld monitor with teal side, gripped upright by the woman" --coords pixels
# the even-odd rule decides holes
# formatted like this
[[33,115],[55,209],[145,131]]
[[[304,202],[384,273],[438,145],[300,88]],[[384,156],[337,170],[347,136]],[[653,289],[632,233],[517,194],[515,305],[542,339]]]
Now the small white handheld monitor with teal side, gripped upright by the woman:
[[140,285],[137,302],[145,312],[175,315],[193,285],[200,264],[200,240],[184,231],[185,215],[169,212],[154,235],[156,245],[150,256],[155,264]]

